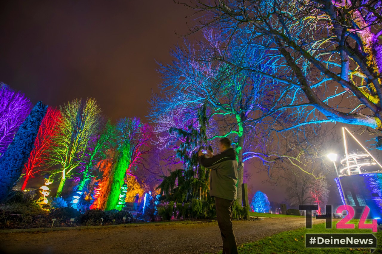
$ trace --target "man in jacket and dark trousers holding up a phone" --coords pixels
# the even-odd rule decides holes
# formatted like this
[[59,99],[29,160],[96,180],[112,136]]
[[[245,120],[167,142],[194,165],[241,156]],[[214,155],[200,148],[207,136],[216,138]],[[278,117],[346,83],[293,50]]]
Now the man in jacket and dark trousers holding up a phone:
[[235,151],[231,148],[231,140],[228,138],[220,140],[219,151],[220,154],[215,156],[212,151],[207,151],[209,158],[199,151],[199,163],[211,169],[210,196],[215,197],[217,223],[223,240],[223,254],[236,254],[238,249],[232,228],[232,205],[236,199],[239,165]]

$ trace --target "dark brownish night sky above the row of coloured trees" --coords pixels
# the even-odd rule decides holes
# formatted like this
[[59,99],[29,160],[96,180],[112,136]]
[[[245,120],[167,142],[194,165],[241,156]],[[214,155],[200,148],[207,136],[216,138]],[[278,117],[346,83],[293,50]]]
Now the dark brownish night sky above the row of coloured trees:
[[[32,103],[94,97],[113,120],[147,121],[147,100],[160,83],[155,60],[171,61],[170,48],[182,40],[174,31],[186,34],[191,14],[172,0],[2,1],[0,81]],[[262,184],[267,175],[248,167],[253,191],[283,201],[282,187]]]

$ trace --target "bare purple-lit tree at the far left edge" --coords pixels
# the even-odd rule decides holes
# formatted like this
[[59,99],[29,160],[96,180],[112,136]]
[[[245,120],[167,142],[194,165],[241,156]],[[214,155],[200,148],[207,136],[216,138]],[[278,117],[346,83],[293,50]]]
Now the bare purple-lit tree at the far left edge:
[[15,92],[0,82],[0,157],[28,116],[30,108],[31,104],[23,93]]

